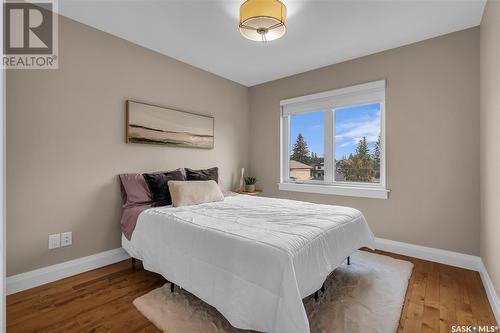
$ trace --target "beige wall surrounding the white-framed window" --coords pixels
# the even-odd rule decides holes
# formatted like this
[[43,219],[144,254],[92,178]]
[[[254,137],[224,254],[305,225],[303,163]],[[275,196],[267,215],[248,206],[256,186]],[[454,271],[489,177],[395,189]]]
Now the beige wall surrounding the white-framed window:
[[[280,100],[379,79],[390,199],[279,191]],[[479,253],[478,28],[251,87],[250,131],[264,195],[352,206],[377,237]]]

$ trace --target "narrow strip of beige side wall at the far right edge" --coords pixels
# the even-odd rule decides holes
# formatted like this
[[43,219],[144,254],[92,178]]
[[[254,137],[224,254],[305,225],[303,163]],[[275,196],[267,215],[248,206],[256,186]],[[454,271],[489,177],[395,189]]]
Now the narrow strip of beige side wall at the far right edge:
[[500,292],[500,2],[481,22],[481,257]]

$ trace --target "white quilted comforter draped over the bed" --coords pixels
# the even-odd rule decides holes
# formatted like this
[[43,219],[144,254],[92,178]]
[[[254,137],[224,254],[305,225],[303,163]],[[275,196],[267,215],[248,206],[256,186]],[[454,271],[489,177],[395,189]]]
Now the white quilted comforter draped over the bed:
[[356,209],[238,195],[151,208],[124,248],[238,328],[309,332],[302,298],[373,234]]

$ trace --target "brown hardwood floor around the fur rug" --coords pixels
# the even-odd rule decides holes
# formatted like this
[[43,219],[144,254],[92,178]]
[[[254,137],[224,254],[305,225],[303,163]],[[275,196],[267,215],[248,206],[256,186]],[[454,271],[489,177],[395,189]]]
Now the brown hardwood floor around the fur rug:
[[[496,325],[479,273],[391,253],[415,265],[398,333]],[[160,332],[132,301],[165,280],[130,260],[7,297],[8,332]]]

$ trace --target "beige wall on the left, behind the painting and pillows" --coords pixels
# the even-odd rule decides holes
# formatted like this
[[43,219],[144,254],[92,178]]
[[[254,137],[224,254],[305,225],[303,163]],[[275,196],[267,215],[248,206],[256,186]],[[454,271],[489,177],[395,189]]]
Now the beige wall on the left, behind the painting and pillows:
[[[122,172],[219,166],[248,156],[248,89],[62,18],[59,70],[7,73],[7,274],[120,247]],[[213,114],[215,149],[124,143],[131,98]],[[48,250],[48,235],[73,245]]]

